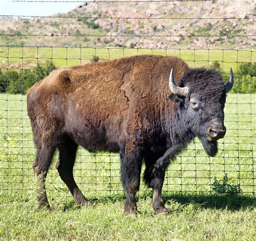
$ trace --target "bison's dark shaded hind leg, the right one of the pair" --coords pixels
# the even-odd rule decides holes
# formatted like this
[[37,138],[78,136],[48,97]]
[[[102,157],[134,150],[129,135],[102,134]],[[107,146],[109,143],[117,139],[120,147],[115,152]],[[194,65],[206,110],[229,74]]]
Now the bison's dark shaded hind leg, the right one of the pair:
[[75,202],[78,205],[90,205],[90,202],[78,188],[73,176],[73,166],[76,160],[77,147],[78,145],[69,137],[62,137],[62,140],[58,145],[59,159],[56,168],[60,178],[65,182],[66,186],[68,186]]

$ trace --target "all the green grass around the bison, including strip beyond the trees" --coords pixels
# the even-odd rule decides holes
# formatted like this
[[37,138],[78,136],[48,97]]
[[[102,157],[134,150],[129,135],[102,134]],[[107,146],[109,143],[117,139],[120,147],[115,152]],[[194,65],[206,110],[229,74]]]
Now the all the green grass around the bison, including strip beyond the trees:
[[[93,55],[113,59],[141,53],[177,55],[194,66],[224,60],[225,72],[235,61],[255,61],[254,52],[151,49],[0,48],[2,68],[31,68],[52,58],[57,67],[89,62]],[[42,50],[43,49],[43,50]],[[40,52],[42,51],[42,52]],[[68,55],[66,55],[68,51]],[[81,52],[80,52],[81,51]],[[83,52],[84,51],[84,52]],[[96,51],[96,53],[95,53]],[[81,55],[80,55],[81,53]],[[209,55],[208,55],[209,53]],[[238,55],[237,55],[238,54]],[[228,58],[226,58],[228,55]],[[22,58],[23,56],[23,58]],[[66,59],[66,56],[68,58]],[[81,56],[81,57],[79,57]],[[209,56],[209,58],[208,58]],[[63,58],[63,59],[62,59]],[[253,59],[254,58],[254,59]],[[196,60],[194,62],[193,60]],[[200,61],[204,60],[204,61]],[[209,62],[207,61],[209,60]],[[123,213],[119,157],[114,153],[91,154],[78,150],[75,179],[92,207],[79,208],[55,169],[56,157],[46,179],[52,211],[36,209],[35,157],[26,96],[0,94],[0,239],[77,240],[253,240],[255,233],[256,94],[228,94],[225,107],[227,133],[219,141],[217,157],[207,157],[196,139],[168,171],[164,201],[168,216],[151,209],[152,193],[143,183],[138,194],[138,217]],[[214,177],[239,184],[238,196],[213,191]]]

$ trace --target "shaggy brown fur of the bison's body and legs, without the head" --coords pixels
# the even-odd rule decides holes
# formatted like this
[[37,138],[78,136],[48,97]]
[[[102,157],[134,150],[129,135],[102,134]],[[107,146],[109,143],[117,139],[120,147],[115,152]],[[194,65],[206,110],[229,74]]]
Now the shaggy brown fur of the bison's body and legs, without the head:
[[[50,208],[44,179],[56,148],[60,177],[78,204],[88,204],[72,174],[77,145],[81,145],[90,152],[120,153],[127,212],[137,211],[135,194],[144,158],[144,178],[154,190],[153,208],[158,213],[167,212],[161,201],[167,164],[158,175],[163,160],[157,160],[176,141],[181,142],[172,152],[173,158],[195,136],[187,134],[185,140],[180,134],[186,135],[186,131],[177,133],[170,127],[178,126],[176,119],[180,117],[173,113],[184,102],[167,98],[171,94],[168,80],[172,68],[174,80],[182,87],[186,81],[178,81],[188,71],[184,61],[171,56],[138,55],[54,70],[29,90],[28,114],[37,148],[33,168],[36,175],[42,174],[39,207]],[[218,78],[222,81],[221,76]],[[223,93],[224,85],[220,88]]]

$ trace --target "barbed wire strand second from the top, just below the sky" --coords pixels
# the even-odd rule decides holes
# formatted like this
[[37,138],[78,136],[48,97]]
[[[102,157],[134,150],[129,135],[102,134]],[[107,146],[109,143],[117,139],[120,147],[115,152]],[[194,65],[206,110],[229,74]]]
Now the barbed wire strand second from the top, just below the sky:
[[189,18],[189,17],[84,17],[84,16],[33,16],[33,15],[0,15],[0,17],[19,17],[19,18],[86,18],[86,19],[255,19],[256,17],[208,17],[208,18]]

